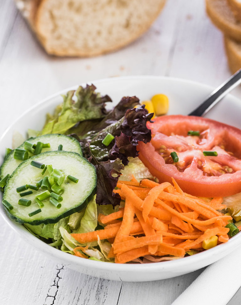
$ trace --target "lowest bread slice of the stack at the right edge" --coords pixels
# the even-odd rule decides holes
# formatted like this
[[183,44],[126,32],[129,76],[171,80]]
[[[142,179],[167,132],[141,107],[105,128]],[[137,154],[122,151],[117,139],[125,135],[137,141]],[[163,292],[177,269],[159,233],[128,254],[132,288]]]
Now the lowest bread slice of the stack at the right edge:
[[241,43],[224,36],[224,45],[228,57],[229,69],[232,73],[241,69]]

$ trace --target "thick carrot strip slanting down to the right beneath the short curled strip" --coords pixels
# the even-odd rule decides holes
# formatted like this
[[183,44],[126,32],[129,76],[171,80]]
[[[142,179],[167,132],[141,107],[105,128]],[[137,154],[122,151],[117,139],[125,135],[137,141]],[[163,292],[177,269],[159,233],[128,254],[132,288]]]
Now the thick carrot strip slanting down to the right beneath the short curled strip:
[[[149,181],[149,180],[148,180]],[[129,189],[125,184],[122,185],[121,191],[123,194],[131,200],[132,204],[142,211],[143,200],[140,199],[132,189]],[[171,220],[171,214],[165,210],[153,207],[150,211],[150,215],[160,218],[162,220]],[[228,216],[227,216],[228,217]]]

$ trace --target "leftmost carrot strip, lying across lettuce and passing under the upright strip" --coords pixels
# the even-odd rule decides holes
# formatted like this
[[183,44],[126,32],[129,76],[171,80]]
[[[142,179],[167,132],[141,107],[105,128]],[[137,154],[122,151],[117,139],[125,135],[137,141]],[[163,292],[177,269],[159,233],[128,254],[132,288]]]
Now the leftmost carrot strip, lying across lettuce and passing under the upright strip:
[[[119,228],[120,228],[119,225],[115,225],[114,227],[109,228],[109,229],[97,230],[97,231],[86,232],[86,233],[72,233],[71,235],[79,243],[85,244],[87,242],[97,241],[98,235],[99,235],[100,240],[115,237]],[[130,233],[139,232],[141,230],[142,230],[142,226],[141,226],[140,222],[136,221],[133,223]]]

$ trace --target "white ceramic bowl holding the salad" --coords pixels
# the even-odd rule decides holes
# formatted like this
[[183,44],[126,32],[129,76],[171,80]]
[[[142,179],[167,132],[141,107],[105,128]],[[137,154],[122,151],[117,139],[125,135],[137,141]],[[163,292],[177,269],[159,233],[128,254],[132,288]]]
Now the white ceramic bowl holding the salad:
[[[169,114],[188,114],[198,106],[212,88],[206,85],[187,80],[158,76],[130,76],[117,77],[93,81],[101,94],[108,94],[113,99],[113,105],[120,101],[122,96],[136,95],[140,100],[150,99],[157,93],[164,93],[169,97]],[[77,86],[73,87],[76,88]],[[62,102],[60,94],[66,93],[68,88],[41,101],[19,117],[3,134],[0,139],[0,162],[3,161],[5,147],[11,147],[12,135],[15,130],[26,136],[28,128],[40,130],[45,121],[45,114],[52,112],[56,105]],[[209,118],[241,127],[241,102],[231,96],[226,96],[217,106],[206,115]],[[184,257],[175,261],[164,261],[150,264],[111,264],[82,259],[48,246],[34,235],[29,233],[23,225],[19,225],[8,218],[2,205],[0,213],[8,225],[29,244],[47,254],[55,261],[78,270],[79,272],[117,281],[153,281],[176,277],[204,266],[210,265],[228,253],[235,250],[241,243],[241,234],[231,238],[228,243],[221,244],[210,250],[193,256]]]

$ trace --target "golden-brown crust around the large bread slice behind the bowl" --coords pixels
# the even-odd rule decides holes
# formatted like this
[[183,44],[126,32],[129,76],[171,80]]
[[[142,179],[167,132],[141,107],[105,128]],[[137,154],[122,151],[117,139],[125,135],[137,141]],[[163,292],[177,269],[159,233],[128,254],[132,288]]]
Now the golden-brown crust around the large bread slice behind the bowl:
[[[33,31],[35,32],[37,38],[39,39],[40,43],[43,45],[44,49],[46,50],[46,52],[50,55],[56,55],[56,56],[66,56],[66,57],[91,57],[91,56],[97,56],[97,55],[101,55],[101,54],[105,54],[108,52],[113,52],[116,51],[124,46],[126,46],[127,44],[130,44],[132,41],[134,41],[135,39],[137,39],[138,37],[140,37],[143,33],[145,33],[148,28],[152,25],[152,23],[154,22],[154,20],[158,17],[159,13],[161,12],[163,6],[165,5],[166,0],[156,0],[157,2],[159,2],[158,5],[158,9],[156,9],[155,13],[153,14],[153,18],[148,20],[148,22],[145,24],[145,26],[139,30],[139,31],[135,31],[134,33],[132,33],[132,35],[129,35],[128,38],[126,38],[125,40],[123,39],[122,41],[120,41],[119,43],[115,44],[114,46],[108,46],[106,45],[105,48],[102,49],[72,49],[72,48],[61,48],[58,47],[58,49],[55,48],[51,48],[47,45],[46,43],[46,37],[43,35],[43,33],[41,33],[41,14],[44,13],[44,7],[45,7],[45,3],[49,0],[33,0],[33,1],[37,1],[37,5],[35,6],[35,13],[32,15],[34,16],[33,18],[33,22],[30,22],[30,20],[27,18],[29,24],[31,25],[31,28],[33,29]],[[59,0],[61,1],[61,0]],[[101,0],[99,0],[101,1]],[[129,0],[131,1],[131,0]]]

